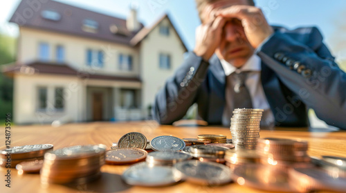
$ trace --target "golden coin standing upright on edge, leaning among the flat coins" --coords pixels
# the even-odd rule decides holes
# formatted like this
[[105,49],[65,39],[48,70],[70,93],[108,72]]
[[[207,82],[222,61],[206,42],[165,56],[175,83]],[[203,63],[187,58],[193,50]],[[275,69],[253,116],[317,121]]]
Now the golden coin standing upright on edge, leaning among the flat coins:
[[139,132],[129,132],[118,141],[118,148],[139,148],[144,150],[146,145],[147,138]]

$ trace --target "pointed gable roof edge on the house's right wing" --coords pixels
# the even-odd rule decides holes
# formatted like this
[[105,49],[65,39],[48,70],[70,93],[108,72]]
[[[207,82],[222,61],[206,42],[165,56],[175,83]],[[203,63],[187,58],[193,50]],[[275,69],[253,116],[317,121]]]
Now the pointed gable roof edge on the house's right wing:
[[150,28],[142,28],[142,30],[140,30],[130,41],[131,45],[136,46],[138,43],[140,43],[140,41],[142,41],[143,39],[145,39],[145,37],[147,37],[147,35],[152,32],[152,30],[154,30],[154,28],[156,26],[158,26],[159,23],[161,23],[161,21],[163,21],[163,19],[167,18],[168,21],[170,22],[170,25],[173,26],[173,30],[174,32],[176,32],[176,34],[178,34],[179,40],[181,41],[181,44],[183,44],[183,47],[185,49],[185,52],[188,51],[188,48],[186,48],[185,43],[183,42],[183,40],[181,39],[181,37],[179,36],[179,33],[176,31],[176,28],[174,28],[174,25],[172,24],[172,21],[170,19],[170,17],[168,16],[168,14],[164,14],[163,17],[161,17],[160,19],[158,19],[158,21],[156,21],[156,23],[154,23],[154,25],[152,25]]

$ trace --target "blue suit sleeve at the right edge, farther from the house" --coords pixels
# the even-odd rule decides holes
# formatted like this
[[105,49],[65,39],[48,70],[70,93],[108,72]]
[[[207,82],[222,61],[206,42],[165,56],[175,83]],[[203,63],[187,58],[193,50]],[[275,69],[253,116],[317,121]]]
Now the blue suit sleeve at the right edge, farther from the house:
[[275,32],[257,54],[318,118],[346,130],[346,74],[322,43],[317,28],[295,37]]

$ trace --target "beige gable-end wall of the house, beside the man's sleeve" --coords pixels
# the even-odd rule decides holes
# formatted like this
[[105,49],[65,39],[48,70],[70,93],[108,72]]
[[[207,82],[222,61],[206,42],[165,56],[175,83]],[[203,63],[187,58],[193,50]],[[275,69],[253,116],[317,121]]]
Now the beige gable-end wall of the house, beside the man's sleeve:
[[[161,24],[169,25],[167,18],[156,26],[140,44],[141,74],[143,80],[143,108],[154,102],[156,92],[161,89],[168,77],[172,77],[176,68],[183,62],[183,53],[185,52],[178,34],[170,26],[170,35],[168,37],[159,33]],[[159,68],[159,54],[170,54],[170,70]]]

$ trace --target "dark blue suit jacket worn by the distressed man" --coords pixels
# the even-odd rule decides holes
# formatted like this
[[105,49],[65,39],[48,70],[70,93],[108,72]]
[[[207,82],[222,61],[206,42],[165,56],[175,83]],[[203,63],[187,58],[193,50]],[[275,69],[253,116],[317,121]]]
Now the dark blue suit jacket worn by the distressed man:
[[[309,125],[307,108],[312,108],[327,124],[346,129],[346,74],[322,43],[318,29],[273,28],[274,34],[255,54],[262,59],[262,85],[275,125],[305,127]],[[220,125],[225,83],[216,55],[203,61],[190,52],[156,95],[154,119],[172,124],[197,103],[201,119]]]

